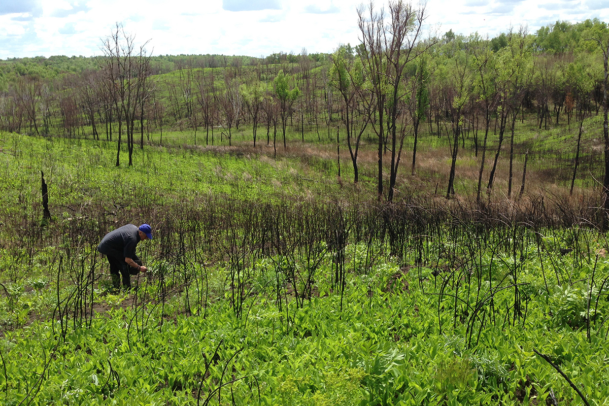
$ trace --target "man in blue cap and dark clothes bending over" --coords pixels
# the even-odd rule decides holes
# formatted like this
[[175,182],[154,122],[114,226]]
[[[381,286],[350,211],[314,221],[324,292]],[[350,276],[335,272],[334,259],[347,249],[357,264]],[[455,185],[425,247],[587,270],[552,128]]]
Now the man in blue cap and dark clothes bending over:
[[127,290],[131,288],[131,275],[147,271],[135,254],[135,247],[143,240],[152,240],[152,228],[147,224],[139,227],[127,224],[110,231],[97,245],[97,251],[108,257],[114,289],[121,287],[121,275],[123,288]]

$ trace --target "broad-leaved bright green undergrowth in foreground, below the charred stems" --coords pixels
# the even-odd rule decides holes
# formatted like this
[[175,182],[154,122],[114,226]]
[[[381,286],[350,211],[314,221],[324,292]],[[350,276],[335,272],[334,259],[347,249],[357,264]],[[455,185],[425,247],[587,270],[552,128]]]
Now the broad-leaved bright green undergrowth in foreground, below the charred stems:
[[[98,298],[117,306],[94,315],[90,326],[69,321],[62,330],[65,321],[41,320],[5,331],[0,397],[10,405],[25,399],[33,405],[534,405],[552,394],[560,404],[582,404],[537,350],[591,404],[609,401],[607,327],[596,324],[586,335],[586,320],[609,311],[586,277],[594,267],[602,281],[609,262],[566,261],[550,273],[546,258],[545,275],[540,262],[529,261],[519,273],[526,308],[510,312],[513,289],[496,290],[495,307],[477,318],[487,323],[468,332],[479,298],[493,285],[510,286],[510,257],[494,265],[483,259],[481,279],[462,280],[459,290],[458,278],[426,267],[379,261],[366,271],[363,248],[348,257],[353,271],[343,295],[324,262],[317,293],[301,304],[289,293],[276,296],[268,282],[281,274],[259,261],[241,317],[231,305],[226,268],[209,271],[206,289],[215,299],[202,303],[199,284],[189,296],[182,290],[163,303],[144,301],[161,293],[152,270],[137,293]],[[27,284],[41,296],[48,288]],[[477,293],[463,293],[475,286]],[[121,301],[129,304],[118,306]]]

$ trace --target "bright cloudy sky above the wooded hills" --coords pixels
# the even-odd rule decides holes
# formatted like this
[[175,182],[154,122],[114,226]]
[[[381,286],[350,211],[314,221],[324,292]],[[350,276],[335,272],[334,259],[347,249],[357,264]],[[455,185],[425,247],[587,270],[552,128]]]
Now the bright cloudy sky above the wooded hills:
[[[333,52],[359,43],[362,0],[0,0],[0,59],[103,55],[116,24],[152,55]],[[365,2],[369,4],[369,0]],[[386,0],[375,0],[376,9]],[[609,0],[428,0],[424,35],[495,37],[555,21],[609,22]],[[148,42],[147,42],[148,41]]]

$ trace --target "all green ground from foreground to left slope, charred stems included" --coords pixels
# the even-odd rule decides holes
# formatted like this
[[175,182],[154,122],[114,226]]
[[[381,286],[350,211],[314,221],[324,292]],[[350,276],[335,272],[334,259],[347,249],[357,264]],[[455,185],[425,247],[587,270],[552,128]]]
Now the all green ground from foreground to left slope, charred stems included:
[[[537,350],[591,404],[609,401],[604,234],[470,220],[416,195],[384,205],[374,162],[341,186],[332,149],[294,142],[276,158],[145,145],[116,167],[114,143],[2,133],[0,399],[583,404]],[[149,274],[113,292],[95,247],[144,221]]]

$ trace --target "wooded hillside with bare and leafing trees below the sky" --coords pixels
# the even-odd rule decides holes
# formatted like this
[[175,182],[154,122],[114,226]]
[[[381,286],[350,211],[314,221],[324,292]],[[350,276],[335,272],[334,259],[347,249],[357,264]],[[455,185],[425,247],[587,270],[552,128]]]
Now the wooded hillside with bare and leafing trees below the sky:
[[[454,195],[459,141],[471,132],[480,155],[479,200],[493,188],[499,155],[507,148],[507,195],[515,193],[515,127],[525,112],[537,117],[539,129],[572,122],[579,128],[572,191],[583,121],[602,112],[609,210],[607,23],[557,21],[535,33],[521,27],[495,38],[452,31],[424,37],[424,8],[395,1],[386,9],[361,7],[357,14],[361,43],[341,44],[333,54],[311,55],[302,49],[298,55],[280,52],[264,58],[155,57],[117,24],[101,46],[101,57],[2,61],[0,129],[116,141],[119,166],[124,136],[132,164],[136,144],[143,148],[152,136],[162,142],[168,129],[189,131],[194,144],[199,133],[199,143],[205,145],[217,144],[220,132],[222,142],[231,145],[233,131],[247,126],[253,145],[266,138],[276,152],[278,136],[286,148],[287,129],[305,141],[306,128],[320,141],[327,133],[328,140],[347,145],[355,183],[362,136],[371,134],[378,144],[378,196],[387,200],[393,198],[407,137],[413,145],[410,170],[416,170],[421,130],[448,137],[446,197]],[[492,152],[487,151],[491,141]],[[387,187],[385,155],[390,155]],[[483,184],[485,169],[488,181]]]

